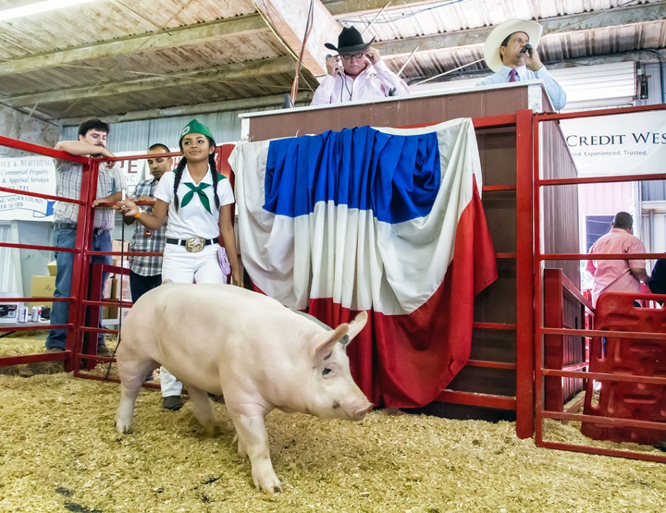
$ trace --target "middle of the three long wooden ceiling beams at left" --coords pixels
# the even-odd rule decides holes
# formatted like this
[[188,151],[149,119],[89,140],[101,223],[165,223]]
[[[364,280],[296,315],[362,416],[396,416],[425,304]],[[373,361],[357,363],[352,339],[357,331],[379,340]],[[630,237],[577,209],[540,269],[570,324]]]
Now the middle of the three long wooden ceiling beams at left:
[[249,78],[254,80],[261,75],[293,73],[293,71],[294,60],[290,56],[282,56],[273,59],[253,60],[252,62],[236,62],[225,66],[173,73],[172,75],[108,82],[93,87],[72,87],[60,91],[8,96],[2,98],[2,102],[16,109],[41,103],[49,104],[83,98],[100,98],[102,96],[137,93],[163,87],[223,82],[225,80],[242,82],[242,80]]

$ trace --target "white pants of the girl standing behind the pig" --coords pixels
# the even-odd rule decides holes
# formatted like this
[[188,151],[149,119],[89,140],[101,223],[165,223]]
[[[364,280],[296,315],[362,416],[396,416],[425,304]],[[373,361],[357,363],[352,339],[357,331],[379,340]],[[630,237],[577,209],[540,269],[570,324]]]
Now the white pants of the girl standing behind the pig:
[[[165,244],[162,261],[162,282],[174,283],[227,283],[218,262],[219,244],[210,244],[198,253],[190,253],[184,246]],[[159,368],[162,397],[180,396],[183,383],[164,367]]]

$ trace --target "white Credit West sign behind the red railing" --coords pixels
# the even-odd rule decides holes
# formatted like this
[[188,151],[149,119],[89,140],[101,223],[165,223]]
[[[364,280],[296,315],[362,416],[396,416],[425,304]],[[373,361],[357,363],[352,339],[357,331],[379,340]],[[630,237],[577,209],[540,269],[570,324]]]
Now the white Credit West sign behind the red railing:
[[666,111],[562,119],[560,126],[581,175],[665,171]]

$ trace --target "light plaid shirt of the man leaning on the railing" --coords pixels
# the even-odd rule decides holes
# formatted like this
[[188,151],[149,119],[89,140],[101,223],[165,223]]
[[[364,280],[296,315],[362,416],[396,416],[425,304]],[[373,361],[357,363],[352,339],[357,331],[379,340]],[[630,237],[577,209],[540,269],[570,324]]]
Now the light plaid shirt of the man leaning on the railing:
[[[81,177],[83,166],[76,162],[54,159],[56,163],[56,196],[68,199],[81,197]],[[125,177],[119,166],[109,169],[106,163],[100,163],[100,172],[97,175],[97,198],[106,198],[125,187]],[[97,207],[95,211],[94,228],[105,230],[113,229],[115,225],[115,210],[111,207]],[[54,221],[56,223],[76,224],[79,214],[79,205],[56,201],[54,205]]]

